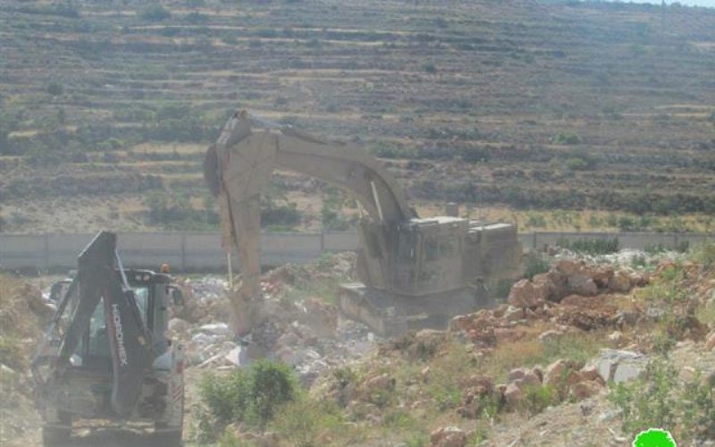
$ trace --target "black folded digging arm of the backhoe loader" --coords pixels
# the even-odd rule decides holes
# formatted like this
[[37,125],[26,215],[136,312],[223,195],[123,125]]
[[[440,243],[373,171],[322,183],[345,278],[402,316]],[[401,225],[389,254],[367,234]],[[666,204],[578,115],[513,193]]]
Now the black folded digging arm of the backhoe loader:
[[[116,235],[99,232],[80,254],[77,276],[33,359],[32,372],[36,383],[51,395],[55,384],[62,382],[64,371],[71,368],[71,358],[88,330],[95,309],[104,306],[113,375],[110,403],[116,416],[125,417],[139,401],[141,386],[138,384],[151,367],[154,355],[150,334],[133,292],[122,284],[115,269],[117,262]],[[119,268],[122,274],[121,266]],[[52,358],[53,350],[49,346],[58,347],[56,358]],[[43,363],[50,367],[46,377],[39,374]]]

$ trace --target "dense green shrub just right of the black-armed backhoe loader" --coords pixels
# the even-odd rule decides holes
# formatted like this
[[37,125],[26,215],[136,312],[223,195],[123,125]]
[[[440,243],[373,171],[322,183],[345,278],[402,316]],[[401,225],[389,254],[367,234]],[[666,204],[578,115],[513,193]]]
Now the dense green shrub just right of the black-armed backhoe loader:
[[199,384],[201,400],[219,425],[243,422],[263,429],[278,407],[295,400],[298,382],[290,367],[259,360],[230,375],[205,375]]

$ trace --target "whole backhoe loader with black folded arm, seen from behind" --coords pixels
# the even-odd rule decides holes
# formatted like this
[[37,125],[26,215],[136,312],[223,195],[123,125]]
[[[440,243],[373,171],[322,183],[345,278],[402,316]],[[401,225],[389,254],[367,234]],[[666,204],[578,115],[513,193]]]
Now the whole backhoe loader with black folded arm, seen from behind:
[[77,419],[104,419],[151,423],[156,443],[181,445],[183,353],[164,335],[181,292],[168,274],[124,270],[111,232],[78,264],[51,289],[57,313],[31,365],[44,442],[67,443]]

